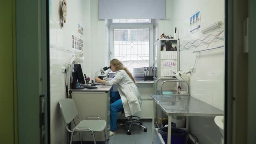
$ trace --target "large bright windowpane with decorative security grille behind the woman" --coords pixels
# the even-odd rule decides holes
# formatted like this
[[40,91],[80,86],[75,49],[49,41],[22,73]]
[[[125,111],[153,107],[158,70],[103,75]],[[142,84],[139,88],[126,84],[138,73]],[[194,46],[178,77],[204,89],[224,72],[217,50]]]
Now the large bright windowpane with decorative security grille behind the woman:
[[149,66],[149,28],[113,29],[112,58],[120,60],[131,73]]

